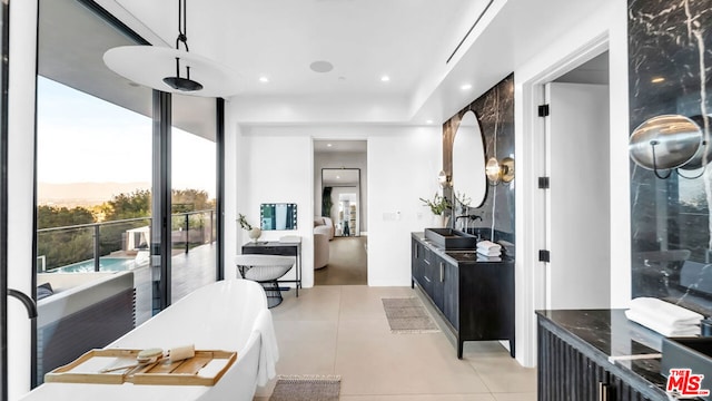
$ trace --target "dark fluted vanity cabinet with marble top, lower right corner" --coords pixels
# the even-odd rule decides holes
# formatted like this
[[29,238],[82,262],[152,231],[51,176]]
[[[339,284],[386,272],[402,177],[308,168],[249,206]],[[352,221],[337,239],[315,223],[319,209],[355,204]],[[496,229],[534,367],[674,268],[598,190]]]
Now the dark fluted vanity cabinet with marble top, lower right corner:
[[[657,350],[623,310],[537,312],[537,392],[547,401],[666,401]],[[642,332],[641,332],[642,330]],[[610,355],[633,354],[611,362]],[[650,358],[649,358],[650,356]]]

